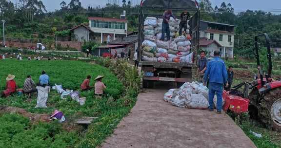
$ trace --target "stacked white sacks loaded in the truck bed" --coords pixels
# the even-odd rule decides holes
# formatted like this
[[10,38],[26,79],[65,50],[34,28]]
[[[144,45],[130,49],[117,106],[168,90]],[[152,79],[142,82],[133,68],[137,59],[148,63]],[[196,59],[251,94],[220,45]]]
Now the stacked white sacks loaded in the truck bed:
[[[192,63],[193,53],[190,51],[192,39],[189,35],[187,24],[187,35],[179,36],[180,19],[170,19],[169,41],[161,41],[162,21],[155,17],[147,17],[144,21],[144,41],[142,42],[141,58],[150,62],[181,62]],[[165,40],[166,34],[165,34]]]

